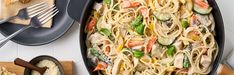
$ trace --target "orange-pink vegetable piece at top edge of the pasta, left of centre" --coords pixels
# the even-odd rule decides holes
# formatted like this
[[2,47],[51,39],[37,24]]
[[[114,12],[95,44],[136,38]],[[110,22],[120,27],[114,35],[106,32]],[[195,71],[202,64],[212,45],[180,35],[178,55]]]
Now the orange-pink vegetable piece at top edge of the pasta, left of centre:
[[123,1],[123,7],[124,8],[133,8],[133,7],[137,7],[139,5],[140,5],[139,2],[131,2],[129,0],[124,0]]

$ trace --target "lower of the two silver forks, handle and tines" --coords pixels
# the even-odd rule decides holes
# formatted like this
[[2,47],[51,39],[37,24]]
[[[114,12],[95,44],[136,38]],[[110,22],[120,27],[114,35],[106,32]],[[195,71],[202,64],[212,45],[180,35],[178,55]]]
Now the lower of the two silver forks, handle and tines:
[[20,34],[21,32],[29,29],[29,28],[39,28],[41,27],[43,24],[45,24],[46,22],[48,22],[51,18],[53,18],[57,13],[59,12],[59,10],[55,7],[55,5],[47,8],[45,10],[45,12],[36,15],[35,17],[31,18],[30,24],[28,26],[25,26],[21,29],[19,29],[18,31],[14,32],[13,34],[7,36],[6,38],[2,39],[0,41],[0,48],[2,46],[4,46],[10,39],[12,39],[13,37],[15,37],[16,35]]

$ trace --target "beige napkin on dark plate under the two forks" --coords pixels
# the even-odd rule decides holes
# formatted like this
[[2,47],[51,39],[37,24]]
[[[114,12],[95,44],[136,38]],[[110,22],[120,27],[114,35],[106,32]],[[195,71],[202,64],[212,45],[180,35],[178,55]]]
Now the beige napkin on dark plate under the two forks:
[[[52,6],[54,4],[54,0],[31,0],[27,4],[22,4],[19,1],[17,1],[9,5],[6,5],[5,1],[7,0],[1,0],[1,3],[0,3],[0,20],[7,18],[7,17],[14,16],[18,13],[20,9],[35,5],[40,2],[46,2],[49,6]],[[9,22],[21,24],[21,25],[29,25],[30,20],[22,20],[19,18],[15,18],[13,20],[10,20]],[[49,20],[44,25],[42,25],[42,27],[44,28],[51,28],[51,26],[52,26],[52,19]]]

